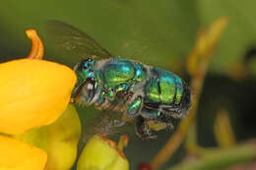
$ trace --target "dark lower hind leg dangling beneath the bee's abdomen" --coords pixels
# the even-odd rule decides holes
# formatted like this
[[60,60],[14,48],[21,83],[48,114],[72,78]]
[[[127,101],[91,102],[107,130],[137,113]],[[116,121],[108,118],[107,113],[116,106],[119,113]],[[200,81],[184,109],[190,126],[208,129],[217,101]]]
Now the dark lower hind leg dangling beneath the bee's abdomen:
[[153,136],[151,134],[151,129],[147,124],[147,121],[145,118],[142,116],[138,116],[136,119],[136,134],[141,138],[141,139],[156,139],[157,136]]

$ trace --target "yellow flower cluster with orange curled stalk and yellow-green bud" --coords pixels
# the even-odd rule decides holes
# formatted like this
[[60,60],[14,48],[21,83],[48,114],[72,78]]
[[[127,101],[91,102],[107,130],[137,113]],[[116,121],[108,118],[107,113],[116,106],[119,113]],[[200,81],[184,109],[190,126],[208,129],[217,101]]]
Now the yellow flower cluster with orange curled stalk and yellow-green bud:
[[[0,170],[70,170],[81,136],[79,116],[68,104],[76,75],[64,65],[41,60],[40,38],[33,29],[27,34],[30,55],[0,64]],[[129,169],[120,148],[95,136],[77,169]]]

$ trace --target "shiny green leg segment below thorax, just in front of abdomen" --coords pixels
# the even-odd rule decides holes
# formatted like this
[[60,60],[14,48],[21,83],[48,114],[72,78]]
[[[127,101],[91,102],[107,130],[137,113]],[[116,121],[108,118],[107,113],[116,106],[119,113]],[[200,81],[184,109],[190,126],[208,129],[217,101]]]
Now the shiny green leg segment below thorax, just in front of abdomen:
[[123,120],[130,120],[140,114],[143,105],[143,98],[141,95],[133,96],[131,101],[127,103],[127,109],[123,114]]

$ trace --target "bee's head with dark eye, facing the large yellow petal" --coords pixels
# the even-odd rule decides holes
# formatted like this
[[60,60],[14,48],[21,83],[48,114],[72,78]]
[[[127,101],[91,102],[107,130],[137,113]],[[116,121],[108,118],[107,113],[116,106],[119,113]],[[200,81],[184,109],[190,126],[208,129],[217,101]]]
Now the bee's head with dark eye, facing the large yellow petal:
[[88,58],[75,66],[77,84],[72,91],[71,101],[89,104],[94,98],[97,85],[95,63],[95,60]]

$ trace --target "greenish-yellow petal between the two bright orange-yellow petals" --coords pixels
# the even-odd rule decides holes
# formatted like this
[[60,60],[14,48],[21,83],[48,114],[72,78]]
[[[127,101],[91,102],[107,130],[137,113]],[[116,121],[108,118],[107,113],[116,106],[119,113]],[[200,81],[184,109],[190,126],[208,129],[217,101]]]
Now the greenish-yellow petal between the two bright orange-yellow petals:
[[45,170],[70,170],[77,157],[78,142],[81,136],[81,123],[76,109],[69,104],[61,117],[53,124],[33,129],[16,136],[47,152]]

